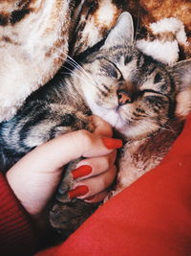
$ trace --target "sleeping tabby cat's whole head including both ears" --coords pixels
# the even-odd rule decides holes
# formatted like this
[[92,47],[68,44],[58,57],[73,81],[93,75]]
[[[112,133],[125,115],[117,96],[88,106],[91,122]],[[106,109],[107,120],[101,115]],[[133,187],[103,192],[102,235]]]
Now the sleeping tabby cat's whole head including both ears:
[[132,24],[129,13],[120,16],[100,51],[82,62],[85,71],[79,83],[94,114],[127,138],[138,139],[165,127],[175,115],[186,72],[184,87],[191,103],[191,64],[182,61],[184,67],[179,63],[170,69],[143,55],[133,45]]

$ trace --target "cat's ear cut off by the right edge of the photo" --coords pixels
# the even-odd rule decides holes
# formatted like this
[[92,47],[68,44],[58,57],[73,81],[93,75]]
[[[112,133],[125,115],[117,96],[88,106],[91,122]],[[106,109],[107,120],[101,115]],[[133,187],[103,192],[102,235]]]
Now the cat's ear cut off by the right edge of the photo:
[[191,59],[170,67],[177,91],[176,115],[185,118],[191,111]]

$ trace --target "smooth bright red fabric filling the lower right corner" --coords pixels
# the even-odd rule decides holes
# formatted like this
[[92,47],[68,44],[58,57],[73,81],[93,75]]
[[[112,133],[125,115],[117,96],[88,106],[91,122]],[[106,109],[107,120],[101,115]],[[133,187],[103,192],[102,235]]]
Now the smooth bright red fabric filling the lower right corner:
[[37,255],[191,255],[191,115],[158,168],[99,208],[64,244]]

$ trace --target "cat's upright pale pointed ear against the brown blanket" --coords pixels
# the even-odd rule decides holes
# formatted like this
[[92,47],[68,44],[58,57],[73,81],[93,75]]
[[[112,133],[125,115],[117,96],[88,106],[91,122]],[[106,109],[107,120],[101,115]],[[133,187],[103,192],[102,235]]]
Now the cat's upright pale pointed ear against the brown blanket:
[[134,41],[134,23],[129,12],[122,12],[117,19],[116,26],[107,36],[103,47],[112,47],[121,44],[132,44]]

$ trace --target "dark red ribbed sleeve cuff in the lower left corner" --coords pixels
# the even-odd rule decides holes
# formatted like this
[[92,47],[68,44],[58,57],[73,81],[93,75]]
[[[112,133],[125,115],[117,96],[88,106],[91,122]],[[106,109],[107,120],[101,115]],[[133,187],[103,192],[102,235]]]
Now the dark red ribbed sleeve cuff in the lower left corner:
[[32,224],[0,174],[0,255],[32,255],[37,248]]

